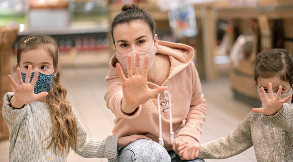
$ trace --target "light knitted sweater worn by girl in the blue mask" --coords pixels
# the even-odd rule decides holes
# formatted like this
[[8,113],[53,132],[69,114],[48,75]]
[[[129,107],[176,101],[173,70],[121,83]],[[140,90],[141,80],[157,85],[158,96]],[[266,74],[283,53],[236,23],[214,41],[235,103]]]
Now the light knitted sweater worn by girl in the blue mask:
[[[51,118],[48,105],[44,102],[35,101],[25,105],[23,108],[14,109],[10,106],[10,99],[14,93],[6,93],[2,115],[9,128],[9,161],[51,161],[65,162],[66,153],[60,153],[58,147],[57,155],[54,145],[50,144]],[[81,125],[74,108],[74,117],[77,120],[78,144],[74,150],[76,154],[85,158],[115,158],[117,155],[118,136],[108,136],[104,139],[86,139],[87,133]],[[48,140],[45,140],[49,137]]]

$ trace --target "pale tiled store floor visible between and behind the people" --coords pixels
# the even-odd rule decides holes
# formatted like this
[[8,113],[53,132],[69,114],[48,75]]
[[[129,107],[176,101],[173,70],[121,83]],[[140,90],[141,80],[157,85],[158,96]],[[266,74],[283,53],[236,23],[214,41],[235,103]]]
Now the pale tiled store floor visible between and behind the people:
[[[88,137],[103,138],[111,135],[113,113],[106,107],[104,78],[108,68],[62,69],[62,82],[68,89],[68,95]],[[251,111],[250,105],[233,99],[227,77],[215,82],[202,82],[207,100],[207,116],[203,126],[201,143],[227,136],[237,124]],[[8,161],[9,141],[0,141],[0,161]],[[68,162],[106,162],[106,159],[85,159],[73,151]],[[256,161],[253,148],[225,160],[206,160],[206,162],[252,162]]]

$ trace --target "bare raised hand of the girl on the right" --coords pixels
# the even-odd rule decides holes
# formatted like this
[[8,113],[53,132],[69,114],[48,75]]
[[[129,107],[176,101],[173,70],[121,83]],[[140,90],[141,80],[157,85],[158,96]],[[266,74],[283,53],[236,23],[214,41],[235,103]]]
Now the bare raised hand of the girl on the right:
[[263,87],[261,88],[262,96],[264,99],[264,102],[266,103],[266,106],[263,108],[253,108],[252,112],[262,113],[264,115],[275,115],[277,112],[279,112],[283,106],[283,103],[288,101],[292,98],[292,95],[280,100],[281,92],[282,92],[282,86],[279,86],[276,98],[273,96],[273,90],[272,90],[272,84],[269,83],[269,98],[266,95],[265,90]]

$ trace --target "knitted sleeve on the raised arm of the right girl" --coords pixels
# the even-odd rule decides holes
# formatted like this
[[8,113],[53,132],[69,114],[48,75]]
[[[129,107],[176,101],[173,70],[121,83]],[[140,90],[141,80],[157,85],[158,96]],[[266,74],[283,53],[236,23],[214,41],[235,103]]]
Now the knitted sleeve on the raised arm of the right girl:
[[275,115],[268,115],[267,120],[273,125],[283,128],[293,134],[293,104],[284,103]]

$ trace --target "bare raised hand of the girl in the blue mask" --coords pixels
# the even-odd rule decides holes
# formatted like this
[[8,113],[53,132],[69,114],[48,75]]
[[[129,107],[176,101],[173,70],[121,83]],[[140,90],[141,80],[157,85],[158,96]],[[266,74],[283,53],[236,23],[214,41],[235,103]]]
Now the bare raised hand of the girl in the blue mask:
[[25,83],[22,82],[22,76],[20,74],[20,68],[16,69],[17,71],[17,83],[12,79],[11,75],[8,75],[8,79],[12,83],[14,87],[14,96],[10,100],[10,104],[14,108],[20,108],[24,104],[29,104],[31,102],[34,102],[42,97],[45,97],[48,95],[48,92],[41,92],[38,94],[35,94],[34,87],[36,85],[36,81],[38,79],[39,71],[36,70],[34,78],[31,80],[31,65],[28,66],[27,74],[26,74],[26,80]]

